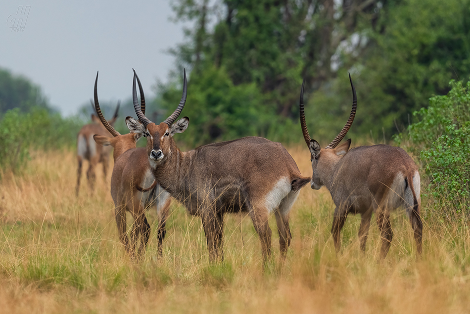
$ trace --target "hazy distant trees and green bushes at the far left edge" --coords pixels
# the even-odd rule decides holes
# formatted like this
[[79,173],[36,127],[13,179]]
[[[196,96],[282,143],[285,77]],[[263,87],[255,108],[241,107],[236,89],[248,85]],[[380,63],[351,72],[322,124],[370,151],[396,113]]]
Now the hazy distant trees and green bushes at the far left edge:
[[21,171],[31,149],[75,146],[81,124],[56,112],[29,79],[0,68],[0,178]]

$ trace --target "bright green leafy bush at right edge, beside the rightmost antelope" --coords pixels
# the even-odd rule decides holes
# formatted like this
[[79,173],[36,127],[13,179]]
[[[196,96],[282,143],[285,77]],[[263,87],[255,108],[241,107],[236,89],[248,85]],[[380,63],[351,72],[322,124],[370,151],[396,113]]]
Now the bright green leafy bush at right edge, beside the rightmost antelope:
[[[419,153],[428,185],[425,194],[435,208],[470,211],[470,82],[451,81],[451,91],[433,97],[429,107],[414,113],[420,122],[398,142],[410,141]],[[418,154],[417,154],[418,155]]]

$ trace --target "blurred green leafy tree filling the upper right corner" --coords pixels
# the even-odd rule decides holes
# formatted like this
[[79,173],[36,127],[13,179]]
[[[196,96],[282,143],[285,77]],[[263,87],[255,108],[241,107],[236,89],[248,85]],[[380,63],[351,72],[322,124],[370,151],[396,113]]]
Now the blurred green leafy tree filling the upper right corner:
[[388,134],[401,130],[410,113],[429,97],[449,92],[450,79],[470,75],[470,1],[400,0],[388,2],[371,49],[356,66],[359,99],[367,112],[363,131],[378,123]]

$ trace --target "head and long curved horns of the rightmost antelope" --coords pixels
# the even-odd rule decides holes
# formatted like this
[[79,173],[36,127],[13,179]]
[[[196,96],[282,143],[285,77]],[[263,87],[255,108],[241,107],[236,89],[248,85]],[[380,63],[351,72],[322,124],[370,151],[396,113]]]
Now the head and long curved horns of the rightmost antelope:
[[[310,181],[310,186],[314,190],[320,189],[323,185],[329,185],[333,181],[332,173],[334,172],[334,166],[343,157],[349,150],[351,145],[351,139],[347,140],[345,143],[338,146],[339,142],[346,136],[346,133],[351,127],[354,116],[356,115],[357,99],[356,99],[356,90],[351,80],[351,75],[349,75],[349,81],[351,82],[351,88],[353,92],[353,105],[351,109],[351,114],[349,119],[344,125],[343,129],[336,138],[324,149],[320,147],[317,141],[310,138],[307,129],[307,123],[305,122],[305,112],[304,112],[304,85],[305,80],[302,83],[302,89],[300,91],[300,125],[302,126],[302,133],[305,139],[305,143],[310,150],[312,161],[312,179]],[[330,188],[330,186],[328,186]]]

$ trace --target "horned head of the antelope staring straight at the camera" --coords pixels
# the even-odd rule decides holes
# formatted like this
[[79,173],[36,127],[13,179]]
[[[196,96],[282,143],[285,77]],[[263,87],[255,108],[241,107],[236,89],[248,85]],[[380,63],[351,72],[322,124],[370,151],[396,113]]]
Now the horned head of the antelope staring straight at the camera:
[[[132,98],[134,102],[134,109],[136,110],[137,117],[139,120],[134,119],[133,117],[126,118],[126,124],[131,132],[136,134],[141,134],[147,138],[147,153],[152,168],[155,168],[157,165],[165,162],[172,153],[177,151],[176,143],[173,139],[173,135],[176,133],[183,133],[189,124],[189,118],[184,117],[178,120],[176,123],[175,120],[180,115],[183,107],[186,103],[187,96],[187,81],[186,81],[186,70],[184,74],[184,84],[183,84],[183,96],[181,97],[180,104],[175,109],[175,111],[162,123],[156,125],[145,117],[142,112],[139,101],[137,98],[137,89],[136,89],[136,79],[139,81],[139,77],[134,71],[134,81],[132,84]],[[140,85],[140,83],[139,83]]]

